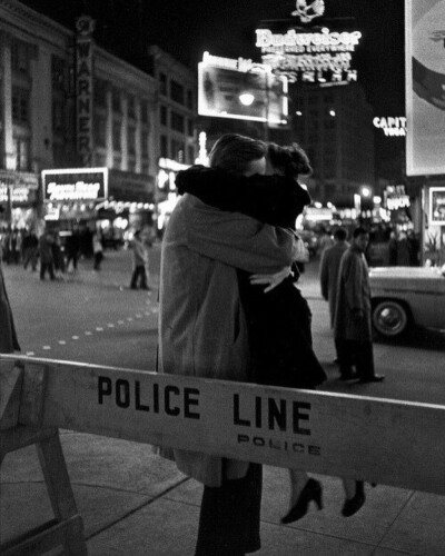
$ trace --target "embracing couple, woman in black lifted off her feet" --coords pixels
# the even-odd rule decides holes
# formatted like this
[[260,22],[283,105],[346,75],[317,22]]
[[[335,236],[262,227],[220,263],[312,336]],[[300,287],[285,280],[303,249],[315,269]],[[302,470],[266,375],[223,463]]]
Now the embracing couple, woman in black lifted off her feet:
[[[299,146],[222,136],[210,167],[179,172],[180,199],[161,250],[159,371],[314,389],[326,379],[312,346],[312,314],[296,287],[301,240],[295,221],[310,203],[297,179],[312,171]],[[261,466],[161,449],[204,485],[197,556],[260,547]],[[303,517],[322,485],[290,469],[290,507]],[[347,513],[364,503],[346,488]],[[345,506],[346,506],[345,503]],[[345,509],[345,507],[344,507]]]

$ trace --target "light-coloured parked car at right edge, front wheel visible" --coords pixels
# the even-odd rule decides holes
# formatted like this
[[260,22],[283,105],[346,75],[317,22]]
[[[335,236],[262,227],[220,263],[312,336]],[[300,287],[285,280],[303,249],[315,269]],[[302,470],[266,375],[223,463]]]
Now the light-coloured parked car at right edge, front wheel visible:
[[394,338],[415,326],[445,330],[444,267],[376,267],[369,272],[374,329]]

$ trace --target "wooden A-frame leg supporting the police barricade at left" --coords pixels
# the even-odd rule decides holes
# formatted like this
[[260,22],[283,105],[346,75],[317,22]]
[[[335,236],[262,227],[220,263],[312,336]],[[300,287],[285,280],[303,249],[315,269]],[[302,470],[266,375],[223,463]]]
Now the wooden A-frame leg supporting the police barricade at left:
[[62,545],[68,556],[86,556],[83,522],[77,510],[58,430],[33,431],[28,427],[18,427],[0,436],[0,465],[6,454],[36,445],[55,513],[55,519],[0,545],[0,554],[41,555]]

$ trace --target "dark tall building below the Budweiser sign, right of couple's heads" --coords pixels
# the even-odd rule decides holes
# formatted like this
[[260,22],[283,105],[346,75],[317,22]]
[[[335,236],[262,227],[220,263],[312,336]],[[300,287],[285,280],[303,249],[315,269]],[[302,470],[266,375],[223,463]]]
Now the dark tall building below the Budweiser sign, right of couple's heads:
[[291,106],[294,137],[314,167],[313,197],[352,208],[364,186],[375,192],[373,108],[360,86],[300,87]]

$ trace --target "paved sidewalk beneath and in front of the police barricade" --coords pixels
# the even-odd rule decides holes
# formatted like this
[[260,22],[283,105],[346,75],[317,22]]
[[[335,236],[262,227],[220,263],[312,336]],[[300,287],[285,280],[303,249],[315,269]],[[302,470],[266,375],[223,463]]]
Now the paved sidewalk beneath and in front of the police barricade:
[[[96,279],[96,278],[91,278]],[[306,284],[305,284],[306,282]],[[301,289],[319,297],[309,272]],[[329,340],[330,341],[330,340]],[[151,447],[69,430],[61,441],[90,556],[191,556],[201,487]],[[53,517],[33,446],[9,454],[0,468],[0,542]],[[445,553],[445,497],[366,486],[353,517],[340,515],[339,478],[317,476],[324,509],[283,526],[289,479],[265,466],[259,556],[425,555]],[[52,550],[51,554],[61,554]]]

